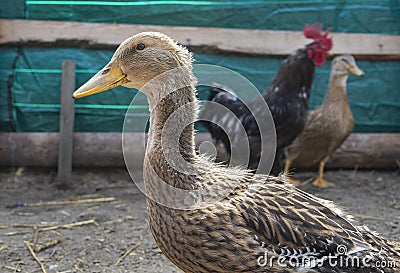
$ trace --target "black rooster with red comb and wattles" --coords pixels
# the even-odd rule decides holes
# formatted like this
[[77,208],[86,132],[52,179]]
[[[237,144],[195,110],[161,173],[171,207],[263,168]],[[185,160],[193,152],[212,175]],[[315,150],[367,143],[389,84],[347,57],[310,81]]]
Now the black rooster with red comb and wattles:
[[[278,175],[283,169],[283,149],[304,128],[315,66],[320,66],[325,62],[326,53],[332,48],[332,40],[328,38],[329,30],[322,34],[322,25],[306,25],[303,32],[307,38],[314,39],[314,42],[302,46],[290,54],[280,65],[271,85],[262,94],[269,106],[276,129],[277,149],[271,171],[274,175]],[[248,168],[256,169],[262,153],[261,138],[250,110],[236,97],[233,91],[228,91],[224,87],[211,88],[208,100],[227,107],[240,120],[250,144]],[[257,101],[253,101],[247,104],[255,106],[256,103]],[[251,108],[257,109],[256,107]],[[238,126],[235,126],[232,120],[209,111],[207,107],[203,111],[202,119],[208,120],[203,124],[217,145],[217,157],[222,161],[229,160],[231,149],[235,149],[236,145],[235,138],[231,138],[230,143],[228,135],[234,136],[234,130],[237,130]],[[225,151],[221,151],[221,148]],[[219,156],[224,153],[228,155],[228,158]]]

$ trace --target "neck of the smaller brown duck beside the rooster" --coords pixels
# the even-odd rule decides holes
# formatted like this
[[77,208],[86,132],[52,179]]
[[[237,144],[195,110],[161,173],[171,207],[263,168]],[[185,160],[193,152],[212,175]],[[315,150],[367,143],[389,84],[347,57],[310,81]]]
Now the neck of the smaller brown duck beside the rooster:
[[343,102],[344,105],[348,104],[346,82],[348,73],[332,73],[329,79],[328,92],[326,94],[325,102]]

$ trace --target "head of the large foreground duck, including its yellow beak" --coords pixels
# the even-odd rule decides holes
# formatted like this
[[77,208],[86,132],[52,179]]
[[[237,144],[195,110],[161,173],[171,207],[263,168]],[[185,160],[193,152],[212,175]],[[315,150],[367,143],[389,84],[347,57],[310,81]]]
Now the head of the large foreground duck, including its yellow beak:
[[192,69],[192,55],[165,34],[142,32],[121,43],[111,61],[73,94],[81,98],[117,86],[141,89],[156,76],[178,68]]

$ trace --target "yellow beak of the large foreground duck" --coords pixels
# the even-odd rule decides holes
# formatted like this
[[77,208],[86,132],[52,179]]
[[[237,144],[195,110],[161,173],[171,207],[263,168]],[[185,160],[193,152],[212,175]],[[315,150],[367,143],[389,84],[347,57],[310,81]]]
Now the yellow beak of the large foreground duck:
[[119,68],[116,59],[111,60],[102,70],[82,85],[72,95],[74,99],[100,93],[127,83],[126,74]]

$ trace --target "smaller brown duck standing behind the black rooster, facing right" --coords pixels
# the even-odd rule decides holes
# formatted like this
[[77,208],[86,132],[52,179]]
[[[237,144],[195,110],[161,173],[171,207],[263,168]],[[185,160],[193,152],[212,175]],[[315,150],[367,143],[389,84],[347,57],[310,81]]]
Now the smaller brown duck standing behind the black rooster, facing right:
[[323,179],[323,172],[329,156],[343,144],[354,128],[346,90],[349,73],[364,75],[353,56],[335,57],[325,101],[309,111],[303,131],[285,150],[285,174],[288,174],[292,163],[302,162],[302,165],[306,163],[310,166],[319,163],[318,176],[312,184],[318,187],[334,186]]

